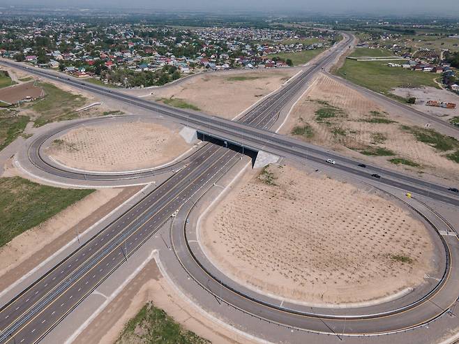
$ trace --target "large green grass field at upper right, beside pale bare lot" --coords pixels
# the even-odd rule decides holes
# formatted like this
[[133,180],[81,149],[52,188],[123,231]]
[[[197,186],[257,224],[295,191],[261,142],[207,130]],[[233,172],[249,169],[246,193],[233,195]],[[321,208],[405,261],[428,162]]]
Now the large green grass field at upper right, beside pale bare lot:
[[[387,66],[386,61],[355,61],[346,59],[337,74],[367,89],[387,96],[393,96],[391,89],[396,87],[430,86],[439,88],[435,73],[416,72],[405,68]],[[393,97],[406,102],[405,98]]]

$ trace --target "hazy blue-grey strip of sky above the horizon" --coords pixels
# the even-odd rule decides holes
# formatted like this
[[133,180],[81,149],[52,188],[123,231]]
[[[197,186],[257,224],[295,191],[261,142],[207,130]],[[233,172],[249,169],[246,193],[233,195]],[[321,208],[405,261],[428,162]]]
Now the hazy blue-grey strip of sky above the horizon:
[[0,6],[45,5],[63,8],[151,8],[181,10],[292,10],[320,13],[384,13],[384,15],[459,14],[459,0],[0,0]]

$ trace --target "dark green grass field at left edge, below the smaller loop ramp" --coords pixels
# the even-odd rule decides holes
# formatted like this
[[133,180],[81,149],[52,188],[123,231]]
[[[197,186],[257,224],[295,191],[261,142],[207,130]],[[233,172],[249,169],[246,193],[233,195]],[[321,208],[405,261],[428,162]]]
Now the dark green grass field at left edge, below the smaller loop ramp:
[[92,192],[0,178],[0,247]]

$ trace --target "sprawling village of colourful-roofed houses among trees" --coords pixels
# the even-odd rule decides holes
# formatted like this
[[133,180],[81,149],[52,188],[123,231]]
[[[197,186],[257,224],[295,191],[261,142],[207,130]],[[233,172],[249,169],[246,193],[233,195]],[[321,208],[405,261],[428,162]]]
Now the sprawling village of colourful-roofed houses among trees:
[[75,22],[3,24],[0,56],[115,87],[160,86],[206,70],[283,68],[289,53],[322,51],[332,31],[169,28],[144,24],[89,27]]

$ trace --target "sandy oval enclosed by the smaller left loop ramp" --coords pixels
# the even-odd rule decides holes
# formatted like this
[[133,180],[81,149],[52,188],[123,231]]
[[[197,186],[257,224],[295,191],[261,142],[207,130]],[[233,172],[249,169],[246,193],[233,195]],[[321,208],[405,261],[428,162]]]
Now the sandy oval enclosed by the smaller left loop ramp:
[[48,149],[68,167],[124,171],[163,165],[190,149],[175,131],[160,124],[130,122],[70,130]]

